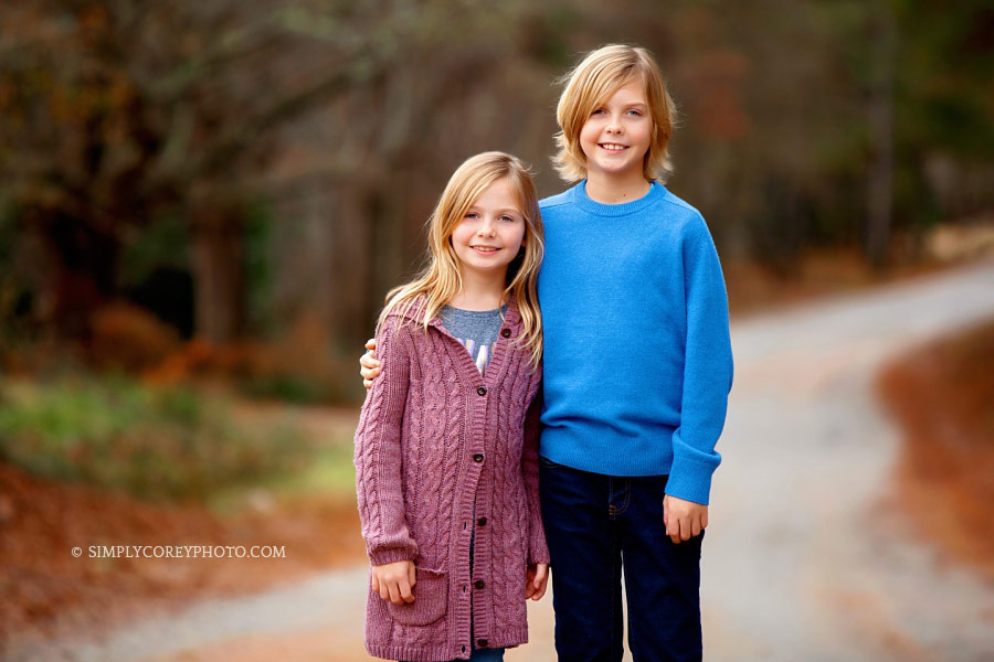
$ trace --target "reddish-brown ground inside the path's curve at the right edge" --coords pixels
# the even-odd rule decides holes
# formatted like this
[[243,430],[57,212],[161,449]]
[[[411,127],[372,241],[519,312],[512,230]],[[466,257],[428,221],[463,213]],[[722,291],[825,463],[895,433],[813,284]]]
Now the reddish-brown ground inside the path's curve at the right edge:
[[896,496],[914,528],[994,578],[994,322],[906,355],[878,387],[903,430]]

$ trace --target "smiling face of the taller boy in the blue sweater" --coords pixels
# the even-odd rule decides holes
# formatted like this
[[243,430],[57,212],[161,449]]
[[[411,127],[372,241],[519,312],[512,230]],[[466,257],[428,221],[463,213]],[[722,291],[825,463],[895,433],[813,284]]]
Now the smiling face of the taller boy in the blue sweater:
[[633,81],[595,107],[580,129],[588,177],[643,177],[643,159],[653,135],[645,90]]

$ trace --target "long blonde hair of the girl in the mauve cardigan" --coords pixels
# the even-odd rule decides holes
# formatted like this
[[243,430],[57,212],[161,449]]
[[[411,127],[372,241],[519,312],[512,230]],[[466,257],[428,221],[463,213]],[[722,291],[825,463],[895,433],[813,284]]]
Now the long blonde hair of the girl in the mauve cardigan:
[[423,297],[413,317],[426,331],[442,307],[459,292],[463,279],[450,239],[473,203],[487,186],[499,180],[507,180],[510,184],[525,217],[522,246],[508,265],[504,299],[514,296],[524,324],[524,333],[516,342],[531,353],[532,365],[538,366],[542,356],[542,318],[537,288],[544,253],[542,217],[531,172],[520,159],[504,152],[490,151],[470,157],[452,174],[429,218],[429,266],[411,282],[390,290],[380,313],[378,330],[390,314],[412,317],[409,313],[419,297]]

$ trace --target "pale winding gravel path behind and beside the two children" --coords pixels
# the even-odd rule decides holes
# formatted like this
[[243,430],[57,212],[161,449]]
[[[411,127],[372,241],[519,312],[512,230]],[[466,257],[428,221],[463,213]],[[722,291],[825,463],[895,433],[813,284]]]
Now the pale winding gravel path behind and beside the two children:
[[[874,372],[994,317],[994,261],[737,321],[736,386],[704,552],[710,661],[994,660],[994,586],[910,537],[897,430]],[[364,568],[213,600],[94,641],[13,642],[11,661],[364,660]],[[552,661],[551,601],[530,605]]]

